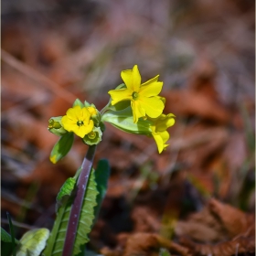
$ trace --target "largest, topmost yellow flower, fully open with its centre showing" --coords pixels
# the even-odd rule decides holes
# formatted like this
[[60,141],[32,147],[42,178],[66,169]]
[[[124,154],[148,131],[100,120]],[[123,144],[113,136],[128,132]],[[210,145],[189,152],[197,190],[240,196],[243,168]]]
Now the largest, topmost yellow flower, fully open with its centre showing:
[[121,77],[126,88],[109,91],[112,105],[120,101],[131,101],[133,110],[133,123],[140,117],[148,115],[151,118],[159,116],[165,107],[161,97],[157,96],[163,87],[163,82],[158,81],[159,75],[141,84],[141,75],[138,66],[133,69],[123,70]]

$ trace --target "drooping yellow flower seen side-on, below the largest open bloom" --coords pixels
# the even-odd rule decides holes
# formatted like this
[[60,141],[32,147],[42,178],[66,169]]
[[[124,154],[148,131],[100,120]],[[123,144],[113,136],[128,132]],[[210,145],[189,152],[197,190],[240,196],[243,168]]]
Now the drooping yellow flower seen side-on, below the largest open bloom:
[[166,130],[175,124],[174,117],[174,114],[169,113],[167,115],[161,114],[158,118],[151,119],[151,121],[154,122],[154,125],[151,126],[152,135],[155,139],[159,154],[168,146],[168,144],[165,143],[169,140],[170,135]]

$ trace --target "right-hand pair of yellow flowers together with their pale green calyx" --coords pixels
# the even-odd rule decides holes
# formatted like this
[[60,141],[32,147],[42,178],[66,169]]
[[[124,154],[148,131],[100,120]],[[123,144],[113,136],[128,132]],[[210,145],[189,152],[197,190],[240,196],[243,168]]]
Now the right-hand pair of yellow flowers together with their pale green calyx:
[[[102,120],[128,133],[140,133],[153,136],[158,152],[162,153],[168,146],[167,128],[174,125],[175,115],[165,115],[165,98],[158,94],[162,90],[163,82],[155,78],[141,83],[141,75],[137,65],[133,69],[123,70],[121,77],[124,84],[109,91],[112,101],[109,103],[111,111],[103,114]],[[131,101],[131,105],[123,106],[124,101]],[[114,106],[118,105],[117,108]],[[122,110],[123,108],[123,110]],[[131,122],[133,115],[133,123]]]

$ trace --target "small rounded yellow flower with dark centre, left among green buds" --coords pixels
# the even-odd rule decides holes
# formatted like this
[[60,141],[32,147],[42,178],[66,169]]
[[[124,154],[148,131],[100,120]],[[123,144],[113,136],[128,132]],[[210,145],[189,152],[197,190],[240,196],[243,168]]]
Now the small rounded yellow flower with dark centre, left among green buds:
[[75,106],[66,113],[61,119],[65,130],[76,133],[81,138],[92,131],[94,123],[90,119],[91,112],[86,107]]

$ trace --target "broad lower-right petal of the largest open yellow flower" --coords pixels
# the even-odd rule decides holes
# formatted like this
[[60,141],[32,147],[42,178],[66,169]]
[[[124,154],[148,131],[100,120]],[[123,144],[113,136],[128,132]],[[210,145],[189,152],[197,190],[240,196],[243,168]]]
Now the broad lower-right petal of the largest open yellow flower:
[[140,104],[142,108],[144,108],[146,114],[152,118],[158,117],[165,108],[163,101],[158,97],[140,98]]

